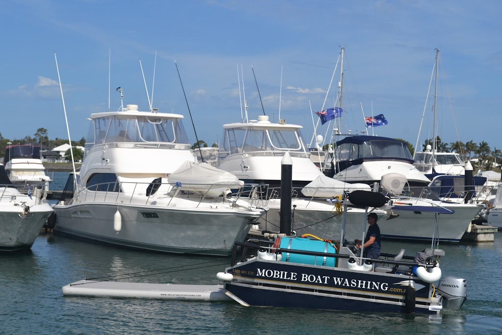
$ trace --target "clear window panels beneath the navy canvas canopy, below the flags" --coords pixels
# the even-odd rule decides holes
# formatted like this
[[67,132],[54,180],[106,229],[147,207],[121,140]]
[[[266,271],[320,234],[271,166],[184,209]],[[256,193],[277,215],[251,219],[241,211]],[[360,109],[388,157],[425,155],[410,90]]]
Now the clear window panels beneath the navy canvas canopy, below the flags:
[[338,159],[352,161],[356,159],[405,159],[413,160],[406,143],[386,140],[371,140],[362,143],[343,143],[337,146]]

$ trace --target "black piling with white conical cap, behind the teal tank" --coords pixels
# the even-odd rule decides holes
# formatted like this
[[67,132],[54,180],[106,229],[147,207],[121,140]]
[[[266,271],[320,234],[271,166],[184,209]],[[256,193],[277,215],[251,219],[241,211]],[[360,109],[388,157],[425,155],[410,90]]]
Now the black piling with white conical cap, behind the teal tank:
[[289,152],[284,154],[281,161],[281,234],[291,235],[291,192],[293,188],[293,160]]

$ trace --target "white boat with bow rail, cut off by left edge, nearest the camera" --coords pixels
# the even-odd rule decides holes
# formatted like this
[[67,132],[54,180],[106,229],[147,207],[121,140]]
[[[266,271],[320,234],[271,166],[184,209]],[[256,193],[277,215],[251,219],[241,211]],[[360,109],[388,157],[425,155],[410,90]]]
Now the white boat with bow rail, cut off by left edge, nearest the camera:
[[0,251],[30,249],[49,216],[43,187],[29,186],[20,192],[0,164]]

